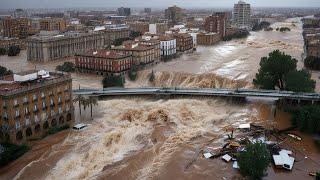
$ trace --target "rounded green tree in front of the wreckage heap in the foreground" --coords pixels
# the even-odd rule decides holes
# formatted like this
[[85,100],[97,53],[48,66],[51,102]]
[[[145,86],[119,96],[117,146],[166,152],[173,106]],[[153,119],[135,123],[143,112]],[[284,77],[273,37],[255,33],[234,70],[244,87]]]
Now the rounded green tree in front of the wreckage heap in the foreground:
[[249,179],[261,179],[266,175],[266,170],[270,164],[270,153],[267,146],[258,142],[248,144],[246,151],[238,155],[240,172]]

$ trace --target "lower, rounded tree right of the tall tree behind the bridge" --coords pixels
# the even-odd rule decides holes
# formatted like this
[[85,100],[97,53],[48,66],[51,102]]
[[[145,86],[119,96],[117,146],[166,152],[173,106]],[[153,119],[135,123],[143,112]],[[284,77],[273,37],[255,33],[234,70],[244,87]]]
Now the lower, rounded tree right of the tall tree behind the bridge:
[[294,92],[313,92],[316,81],[311,79],[311,74],[306,70],[290,71],[285,77],[286,90]]

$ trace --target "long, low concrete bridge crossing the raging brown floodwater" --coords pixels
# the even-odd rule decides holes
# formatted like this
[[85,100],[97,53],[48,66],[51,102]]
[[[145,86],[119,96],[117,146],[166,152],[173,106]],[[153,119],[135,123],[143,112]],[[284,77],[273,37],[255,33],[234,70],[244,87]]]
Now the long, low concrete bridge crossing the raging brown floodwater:
[[294,103],[320,103],[318,93],[296,93],[277,90],[253,89],[209,89],[209,88],[105,88],[105,89],[79,89],[73,90],[74,95],[86,96],[212,96],[232,98],[273,98]]

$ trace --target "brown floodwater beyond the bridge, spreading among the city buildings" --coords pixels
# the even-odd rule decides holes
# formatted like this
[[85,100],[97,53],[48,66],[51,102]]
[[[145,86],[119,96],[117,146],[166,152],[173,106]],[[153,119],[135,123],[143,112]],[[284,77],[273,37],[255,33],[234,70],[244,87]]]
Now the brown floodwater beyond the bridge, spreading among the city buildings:
[[[252,80],[259,69],[260,58],[267,56],[275,49],[280,49],[295,57],[299,62],[298,67],[302,68],[302,23],[299,18],[294,18],[272,25],[274,29],[283,26],[290,27],[291,31],[286,33],[251,32],[246,39],[220,42],[210,47],[199,46],[192,54],[182,55],[173,61],[162,62],[139,72],[137,81],[130,82],[127,79],[126,86],[219,87],[215,81],[218,79],[219,82],[237,81],[241,82],[243,87],[251,87]],[[18,57],[0,56],[0,65],[15,72],[34,68],[53,71],[57,65],[64,62],[31,63],[26,60],[26,56],[26,51],[22,51]],[[151,70],[156,72],[156,79],[159,80],[159,83],[150,84],[148,82]],[[314,79],[318,81],[317,76],[317,73],[313,74]],[[81,88],[102,87],[100,76],[73,73],[72,77],[74,88],[79,88],[79,85]],[[246,82],[246,85],[243,82]]]

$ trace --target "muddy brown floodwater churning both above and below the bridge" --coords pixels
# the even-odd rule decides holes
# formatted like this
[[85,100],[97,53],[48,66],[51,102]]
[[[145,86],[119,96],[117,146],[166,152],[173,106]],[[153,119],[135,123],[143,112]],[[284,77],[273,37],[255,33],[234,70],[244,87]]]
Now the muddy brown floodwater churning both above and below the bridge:
[[[294,26],[292,22],[295,22]],[[260,58],[280,49],[299,60],[302,68],[301,22],[290,19],[273,25],[292,31],[252,32],[247,39],[198,47],[197,52],[160,63],[139,72],[127,87],[180,86],[250,88]],[[70,60],[72,61],[72,60]],[[13,71],[35,66],[54,70],[63,61],[33,64],[26,54],[0,57],[0,65]],[[156,79],[148,82],[154,70]],[[101,87],[101,77],[72,74],[73,87]],[[313,74],[315,79],[317,74]],[[77,108],[77,105],[75,105]],[[0,179],[241,179],[231,164],[221,159],[204,159],[204,147],[221,147],[231,127],[261,123],[280,129],[290,126],[290,116],[280,110],[273,117],[272,102],[238,104],[220,98],[120,98],[99,101],[93,118],[89,110],[76,121],[89,124],[83,131],[64,131],[38,142],[32,150],[0,169]],[[292,172],[269,168],[265,179],[307,179],[320,169],[320,156],[312,138],[303,142],[286,140],[298,162]],[[308,158],[305,158],[305,157]]]

